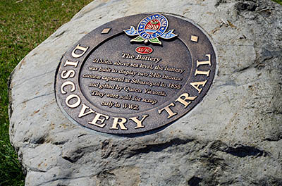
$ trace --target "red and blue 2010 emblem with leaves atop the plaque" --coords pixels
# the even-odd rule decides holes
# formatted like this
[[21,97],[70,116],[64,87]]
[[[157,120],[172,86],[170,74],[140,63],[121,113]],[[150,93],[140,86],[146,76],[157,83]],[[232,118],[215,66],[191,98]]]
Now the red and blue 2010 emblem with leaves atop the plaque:
[[135,30],[135,27],[130,26],[130,29],[123,31],[129,36],[138,35],[134,39],[131,39],[130,42],[151,42],[154,44],[161,44],[158,37],[161,37],[162,39],[171,39],[177,36],[173,33],[174,30],[166,32],[167,28],[167,18],[161,14],[153,14],[143,18],[138,24],[137,30]]

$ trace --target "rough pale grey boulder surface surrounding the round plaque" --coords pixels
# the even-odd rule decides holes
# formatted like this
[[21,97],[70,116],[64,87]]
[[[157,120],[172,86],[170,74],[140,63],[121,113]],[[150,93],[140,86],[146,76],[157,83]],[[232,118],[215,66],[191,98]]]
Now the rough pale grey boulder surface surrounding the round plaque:
[[[71,123],[56,104],[64,52],[95,27],[144,12],[185,16],[212,38],[218,72],[204,100],[137,137]],[[25,185],[282,185],[282,6],[272,1],[93,1],[11,75],[10,136]]]

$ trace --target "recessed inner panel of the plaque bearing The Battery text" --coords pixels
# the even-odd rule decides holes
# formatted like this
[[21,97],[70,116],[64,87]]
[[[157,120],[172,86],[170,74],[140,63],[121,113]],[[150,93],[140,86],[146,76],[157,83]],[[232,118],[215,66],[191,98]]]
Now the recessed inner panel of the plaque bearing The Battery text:
[[[126,114],[154,109],[178,97],[191,75],[190,51],[177,37],[161,46],[129,44],[130,39],[125,34],[107,39],[80,68],[82,94],[101,110]],[[153,51],[138,54],[138,46]]]

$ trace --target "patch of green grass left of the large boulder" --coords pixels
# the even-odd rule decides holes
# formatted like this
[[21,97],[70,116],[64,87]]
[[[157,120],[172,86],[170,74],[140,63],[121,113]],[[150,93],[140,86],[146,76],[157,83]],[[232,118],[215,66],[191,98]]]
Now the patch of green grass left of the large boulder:
[[92,0],[0,1],[0,185],[24,185],[8,136],[8,76],[38,44]]

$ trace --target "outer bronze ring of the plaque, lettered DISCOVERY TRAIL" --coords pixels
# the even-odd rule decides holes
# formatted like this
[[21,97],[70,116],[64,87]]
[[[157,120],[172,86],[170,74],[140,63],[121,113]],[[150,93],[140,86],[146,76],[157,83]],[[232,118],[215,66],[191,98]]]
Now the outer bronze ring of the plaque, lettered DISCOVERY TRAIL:
[[[190,80],[190,82],[190,77],[188,77],[188,81],[185,82],[185,85],[180,89],[178,94],[171,99],[171,104],[168,104],[167,107],[162,106],[159,108],[159,106],[157,108],[152,108],[149,111],[126,113],[126,116],[124,116],[124,113],[99,111],[99,108],[90,104],[90,102],[83,96],[82,91],[80,90],[78,75],[80,75],[81,66],[83,63],[85,63],[90,54],[92,54],[92,51],[99,47],[99,44],[102,44],[102,42],[104,43],[111,39],[111,37],[122,34],[123,30],[128,29],[131,25],[137,26],[140,20],[151,14],[152,13],[142,13],[118,18],[117,20],[105,23],[104,25],[92,30],[92,32],[85,35],[85,37],[82,37],[82,39],[74,44],[71,49],[68,49],[66,54],[63,55],[55,75],[55,96],[56,102],[58,103],[61,111],[63,111],[66,117],[72,120],[73,123],[83,125],[92,130],[111,134],[133,134],[146,132],[148,130],[155,130],[157,128],[163,127],[164,125],[172,123],[173,121],[187,114],[202,101],[203,97],[207,94],[209,87],[212,85],[214,76],[216,75],[216,49],[214,44],[212,44],[212,39],[209,38],[209,36],[199,25],[196,25],[192,22],[192,20],[188,20],[187,18],[169,13],[161,14],[169,21],[168,30],[175,30],[176,34],[178,35],[178,39],[180,39],[180,41],[183,42],[183,44],[185,44],[187,49],[190,51],[192,58],[191,75],[192,73],[195,73],[195,70],[197,67],[199,67],[197,66],[199,65],[199,61],[200,63],[207,62],[207,59],[209,58],[211,63],[210,66],[207,64],[200,65],[200,67],[203,68],[197,69],[198,71],[202,70],[205,72],[209,70],[208,76],[198,73],[197,75],[192,76],[192,80]],[[190,25],[190,30],[185,30],[185,27],[183,28],[183,25],[181,24]],[[107,34],[102,34],[105,29],[110,29],[108,30],[110,32]],[[205,44],[204,46],[201,45],[203,40]],[[87,49],[83,51],[83,48]],[[72,56],[75,49],[78,49],[78,52],[74,53],[79,56],[78,58],[74,58]],[[82,56],[80,56],[80,54],[82,54],[81,52],[83,53]],[[66,65],[66,61],[69,61],[69,64],[71,65]],[[78,63],[76,63],[76,61],[78,61]],[[63,70],[66,70],[65,73],[63,73]],[[66,77],[66,74],[71,70],[75,72],[74,77],[71,77],[73,74],[71,73],[69,77],[63,79],[62,76],[65,75]],[[198,83],[198,89],[191,85],[192,82],[204,82],[205,80],[207,80],[207,82],[205,82],[205,84],[202,86],[200,83]],[[71,82],[73,82],[74,86],[71,84]],[[63,86],[62,89],[63,83],[65,83],[65,86]],[[198,91],[199,89],[201,89],[200,93]],[[66,94],[62,94],[62,92],[66,92]],[[66,104],[66,99],[71,97],[71,95],[77,95],[80,98],[80,104],[74,108],[71,108]],[[196,98],[193,99],[193,97]],[[69,99],[69,103],[73,103],[75,99],[78,98],[73,97],[72,99]],[[178,101],[176,101],[177,99]],[[181,101],[181,99],[184,101]],[[95,120],[97,125],[93,125],[93,123],[91,123],[95,117],[97,117],[97,120]],[[113,120],[116,120],[116,123],[122,123],[121,118],[125,118],[126,120],[126,122],[123,123],[124,125],[114,125]]]

